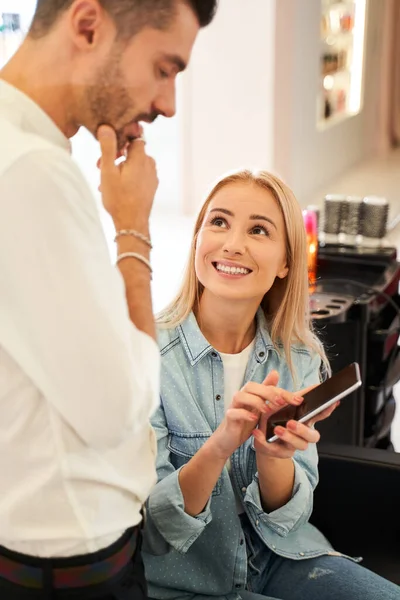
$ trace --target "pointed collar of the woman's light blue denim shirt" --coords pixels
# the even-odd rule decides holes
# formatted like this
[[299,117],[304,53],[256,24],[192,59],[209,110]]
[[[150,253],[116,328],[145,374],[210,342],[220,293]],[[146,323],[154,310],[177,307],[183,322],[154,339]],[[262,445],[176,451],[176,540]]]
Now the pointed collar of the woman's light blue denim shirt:
[[[273,350],[274,345],[268,333],[264,311],[261,308],[257,311],[256,319],[255,356],[257,362],[264,364],[267,360],[268,350]],[[178,325],[177,332],[192,367],[211,352],[217,352],[200,331],[193,312],[183,323]]]

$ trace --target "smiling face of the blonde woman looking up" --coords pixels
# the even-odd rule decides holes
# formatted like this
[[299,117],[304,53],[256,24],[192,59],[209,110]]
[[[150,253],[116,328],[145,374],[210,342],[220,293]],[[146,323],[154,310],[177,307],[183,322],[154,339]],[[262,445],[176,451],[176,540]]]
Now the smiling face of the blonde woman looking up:
[[284,278],[285,225],[273,195],[257,185],[231,183],[210,202],[197,238],[195,269],[204,293],[258,300]]

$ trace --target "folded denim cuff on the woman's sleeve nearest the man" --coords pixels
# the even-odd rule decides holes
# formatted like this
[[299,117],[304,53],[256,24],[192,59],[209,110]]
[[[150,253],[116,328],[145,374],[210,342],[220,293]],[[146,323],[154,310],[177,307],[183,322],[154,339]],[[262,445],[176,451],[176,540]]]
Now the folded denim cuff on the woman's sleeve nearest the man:
[[[211,496],[200,514],[188,515],[179,485],[179,472],[180,469],[174,471],[153,488],[147,517],[170,546],[185,554],[212,520]],[[149,547],[154,545],[148,540]]]

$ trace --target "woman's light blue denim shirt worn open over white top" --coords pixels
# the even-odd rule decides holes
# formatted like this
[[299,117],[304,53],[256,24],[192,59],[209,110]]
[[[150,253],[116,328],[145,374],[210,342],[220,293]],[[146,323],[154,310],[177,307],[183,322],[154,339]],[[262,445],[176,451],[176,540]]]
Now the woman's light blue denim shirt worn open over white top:
[[[158,442],[158,483],[147,502],[143,546],[149,596],[232,594],[234,598],[246,588],[250,557],[254,566],[262,564],[263,555],[271,551],[295,560],[336,554],[308,523],[318,482],[315,444],[296,452],[292,497],[281,508],[270,513],[263,510],[251,438],[232,455],[231,474],[225,467],[203,512],[195,517],[185,513],[179,470],[224,418],[223,363],[193,313],[178,327],[159,330],[158,335],[161,405],[152,418]],[[300,345],[291,352],[296,387],[259,311],[243,384],[261,383],[272,369],[280,375],[279,386],[289,391],[319,383],[320,358]],[[246,538],[233,486],[250,522],[251,535]]]

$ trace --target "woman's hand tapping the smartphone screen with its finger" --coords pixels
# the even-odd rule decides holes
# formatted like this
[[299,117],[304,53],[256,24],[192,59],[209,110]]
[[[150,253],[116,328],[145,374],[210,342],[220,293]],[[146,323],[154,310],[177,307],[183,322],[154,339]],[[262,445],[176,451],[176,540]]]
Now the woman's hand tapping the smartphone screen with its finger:
[[301,402],[302,397],[269,385],[268,378],[264,383],[249,381],[236,392],[224,420],[211,436],[213,451],[218,457],[228,460],[251,436],[260,419],[268,418],[273,411],[288,404],[297,406]]

